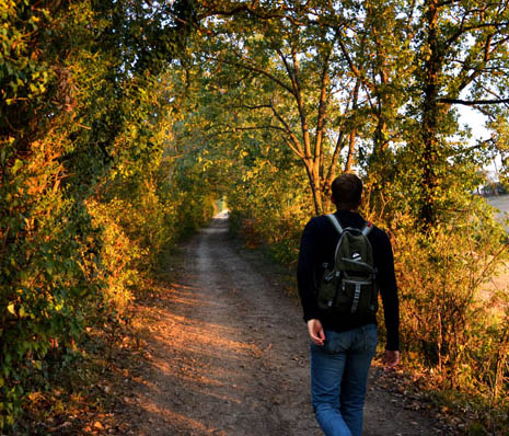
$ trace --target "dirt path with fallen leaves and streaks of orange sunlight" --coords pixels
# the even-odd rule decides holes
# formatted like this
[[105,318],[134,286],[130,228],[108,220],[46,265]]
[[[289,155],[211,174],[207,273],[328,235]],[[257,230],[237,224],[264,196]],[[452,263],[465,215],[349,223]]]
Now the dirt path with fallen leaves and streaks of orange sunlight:
[[[240,257],[224,216],[186,250],[180,282],[144,307],[150,359],[128,403],[134,435],[321,435],[309,401],[305,325],[294,298]],[[365,435],[433,435],[371,376]]]

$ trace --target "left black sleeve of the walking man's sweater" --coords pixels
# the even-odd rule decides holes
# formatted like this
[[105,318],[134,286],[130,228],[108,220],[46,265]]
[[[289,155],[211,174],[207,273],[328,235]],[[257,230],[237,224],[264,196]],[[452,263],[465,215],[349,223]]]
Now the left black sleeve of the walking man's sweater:
[[317,227],[310,220],[302,232],[299,263],[297,267],[297,285],[304,312],[304,321],[319,318],[316,307],[315,262],[319,253]]

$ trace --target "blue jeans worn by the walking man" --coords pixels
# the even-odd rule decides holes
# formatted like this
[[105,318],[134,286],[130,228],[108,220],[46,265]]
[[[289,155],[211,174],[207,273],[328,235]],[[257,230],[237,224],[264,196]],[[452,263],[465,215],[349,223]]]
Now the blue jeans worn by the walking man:
[[377,326],[325,330],[325,344],[311,343],[311,400],[325,436],[361,436],[368,371]]

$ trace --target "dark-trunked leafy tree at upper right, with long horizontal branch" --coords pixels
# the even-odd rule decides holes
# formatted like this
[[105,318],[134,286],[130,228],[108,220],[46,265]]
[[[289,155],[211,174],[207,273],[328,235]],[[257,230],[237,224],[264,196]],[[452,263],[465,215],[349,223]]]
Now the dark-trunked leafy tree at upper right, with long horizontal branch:
[[458,129],[453,105],[470,105],[490,116],[499,113],[493,105],[508,107],[508,36],[505,1],[428,0],[423,4],[415,44],[418,94],[413,104],[420,124],[414,145],[421,176],[419,217],[427,228],[454,203],[447,195],[452,158],[447,137]]

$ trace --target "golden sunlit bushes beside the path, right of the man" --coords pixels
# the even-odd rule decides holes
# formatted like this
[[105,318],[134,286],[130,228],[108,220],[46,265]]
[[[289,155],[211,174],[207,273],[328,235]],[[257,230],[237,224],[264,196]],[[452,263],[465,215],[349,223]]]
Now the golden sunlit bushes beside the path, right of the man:
[[440,401],[475,410],[470,416],[488,428],[483,434],[499,434],[509,392],[509,306],[508,289],[495,290],[490,280],[507,262],[507,236],[483,198],[466,196],[467,207],[429,233],[409,214],[391,222],[403,356]]

